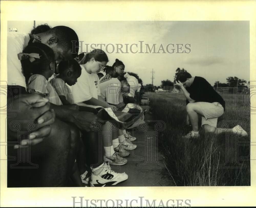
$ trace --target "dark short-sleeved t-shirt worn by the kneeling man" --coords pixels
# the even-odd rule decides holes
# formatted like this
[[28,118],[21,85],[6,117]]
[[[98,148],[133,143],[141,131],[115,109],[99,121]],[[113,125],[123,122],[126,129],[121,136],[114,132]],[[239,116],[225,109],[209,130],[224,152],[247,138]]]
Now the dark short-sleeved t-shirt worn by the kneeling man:
[[[196,102],[218,102],[223,106],[225,111],[225,101],[205,78],[195,77],[193,83],[190,87],[186,87],[186,90],[189,92],[190,98]],[[188,100],[186,100],[186,102],[187,104],[189,103]]]

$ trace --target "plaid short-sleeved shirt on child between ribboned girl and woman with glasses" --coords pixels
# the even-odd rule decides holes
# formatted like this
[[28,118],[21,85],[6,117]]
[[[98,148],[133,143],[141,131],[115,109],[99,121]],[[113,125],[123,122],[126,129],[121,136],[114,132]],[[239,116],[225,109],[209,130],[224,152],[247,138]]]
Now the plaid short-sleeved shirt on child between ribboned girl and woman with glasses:
[[50,83],[52,87],[54,87],[54,89],[56,90],[58,96],[63,95],[66,97],[66,100],[69,103],[71,104],[74,103],[72,92],[69,89],[69,87],[65,84],[63,79],[60,79],[60,78],[52,79]]

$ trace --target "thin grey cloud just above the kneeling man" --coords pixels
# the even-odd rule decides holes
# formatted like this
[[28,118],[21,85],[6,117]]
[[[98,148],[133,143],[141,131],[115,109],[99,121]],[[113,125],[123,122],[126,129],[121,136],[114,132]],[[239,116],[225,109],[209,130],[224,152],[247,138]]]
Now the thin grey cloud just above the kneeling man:
[[201,65],[201,66],[210,66],[214,64],[223,64],[225,63],[225,60],[224,58],[217,57],[217,56],[200,56],[200,57],[186,58],[184,63]]

